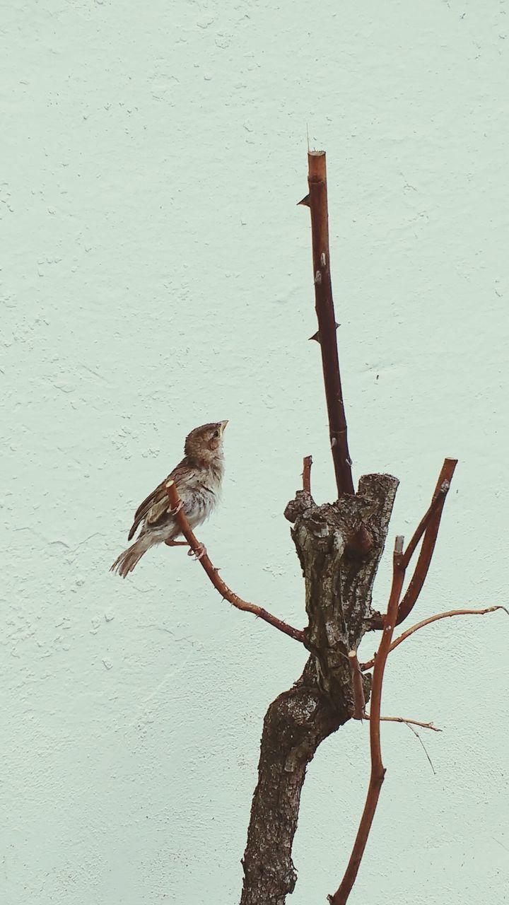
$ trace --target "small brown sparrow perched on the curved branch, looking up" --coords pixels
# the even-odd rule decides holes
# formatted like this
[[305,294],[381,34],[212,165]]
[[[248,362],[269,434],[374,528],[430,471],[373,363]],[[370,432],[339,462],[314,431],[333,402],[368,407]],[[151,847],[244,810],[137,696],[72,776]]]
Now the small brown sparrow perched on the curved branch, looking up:
[[180,529],[168,500],[167,481],[175,481],[187,521],[193,530],[208,518],[216,506],[225,471],[223,432],[226,424],[227,421],[202,424],[188,434],[182,462],[178,462],[177,468],[168,474],[168,478],[140,503],[128,540],[134,537],[143,522],[139,538],[115,559],[111,572],[118,572],[125,578],[154,544],[164,541],[168,547],[177,547],[186,543],[175,539]]

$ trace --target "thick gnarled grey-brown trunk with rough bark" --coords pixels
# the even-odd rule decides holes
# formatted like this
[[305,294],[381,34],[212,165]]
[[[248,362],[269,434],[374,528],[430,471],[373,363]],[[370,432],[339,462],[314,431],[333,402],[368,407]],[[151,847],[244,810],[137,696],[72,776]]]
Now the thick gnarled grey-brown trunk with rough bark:
[[[355,497],[316,506],[309,492],[298,491],[286,507],[303,567],[310,658],[264,719],[241,905],[284,905],[295,886],[292,845],[306,767],[322,740],[351,719],[348,653],[370,628],[372,587],[397,488],[390,475],[366,475]],[[350,541],[362,527],[373,544],[352,557]],[[366,700],[369,692],[365,676]]]

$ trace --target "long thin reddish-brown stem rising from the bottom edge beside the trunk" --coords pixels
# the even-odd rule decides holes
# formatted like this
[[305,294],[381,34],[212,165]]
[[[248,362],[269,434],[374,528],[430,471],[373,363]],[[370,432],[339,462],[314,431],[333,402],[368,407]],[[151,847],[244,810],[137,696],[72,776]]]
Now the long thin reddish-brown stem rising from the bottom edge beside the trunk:
[[359,830],[353,843],[348,867],[344,874],[339,888],[334,892],[333,896],[329,896],[331,905],[345,905],[348,900],[352,886],[359,872],[362,855],[368,842],[371,824],[379,802],[380,789],[385,776],[385,767],[381,759],[380,747],[380,708],[381,708],[381,692],[383,683],[383,674],[385,664],[389,656],[390,643],[392,641],[392,633],[396,624],[396,616],[398,614],[399,597],[403,587],[405,578],[405,567],[403,565],[403,538],[396,538],[394,547],[394,556],[392,559],[392,586],[390,589],[389,605],[387,608],[387,616],[382,636],[379,643],[379,651],[375,661],[373,670],[373,684],[371,687],[371,703],[370,703],[370,755],[371,755],[371,773],[370,784],[368,786],[368,794],[366,795],[366,804],[360,818]]

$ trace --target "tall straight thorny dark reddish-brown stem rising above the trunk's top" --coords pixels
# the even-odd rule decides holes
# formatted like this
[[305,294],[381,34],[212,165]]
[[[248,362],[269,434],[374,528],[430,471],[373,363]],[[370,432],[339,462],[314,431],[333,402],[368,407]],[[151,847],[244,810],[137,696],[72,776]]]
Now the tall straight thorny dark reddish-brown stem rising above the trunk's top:
[[331,259],[329,251],[329,214],[327,207],[327,169],[325,151],[308,154],[309,195],[301,204],[311,210],[312,271],[318,319],[318,335],[322,352],[323,383],[329,415],[332,461],[338,496],[354,493],[351,458],[348,450],[347,424],[341,390],[340,362],[336,338],[336,318],[332,301]]

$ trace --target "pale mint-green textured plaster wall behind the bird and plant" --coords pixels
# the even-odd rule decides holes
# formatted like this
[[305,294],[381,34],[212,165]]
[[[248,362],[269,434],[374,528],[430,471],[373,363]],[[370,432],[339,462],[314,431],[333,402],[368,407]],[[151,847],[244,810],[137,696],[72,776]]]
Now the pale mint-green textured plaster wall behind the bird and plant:
[[[2,10],[2,827],[5,905],[235,905],[264,711],[304,652],[184,553],[110,575],[187,431],[229,418],[200,532],[239,594],[303,625],[283,508],[333,480],[306,124],[329,165],[357,477],[401,480],[409,536],[460,460],[418,617],[507,603],[504,0],[320,5],[10,0]],[[389,556],[376,605],[389,584]],[[404,726],[352,905],[506,901],[504,614],[399,648]],[[372,653],[375,638],[364,651]],[[425,733],[423,732],[424,736]],[[325,901],[368,775],[366,726],[309,770],[293,905]]]

